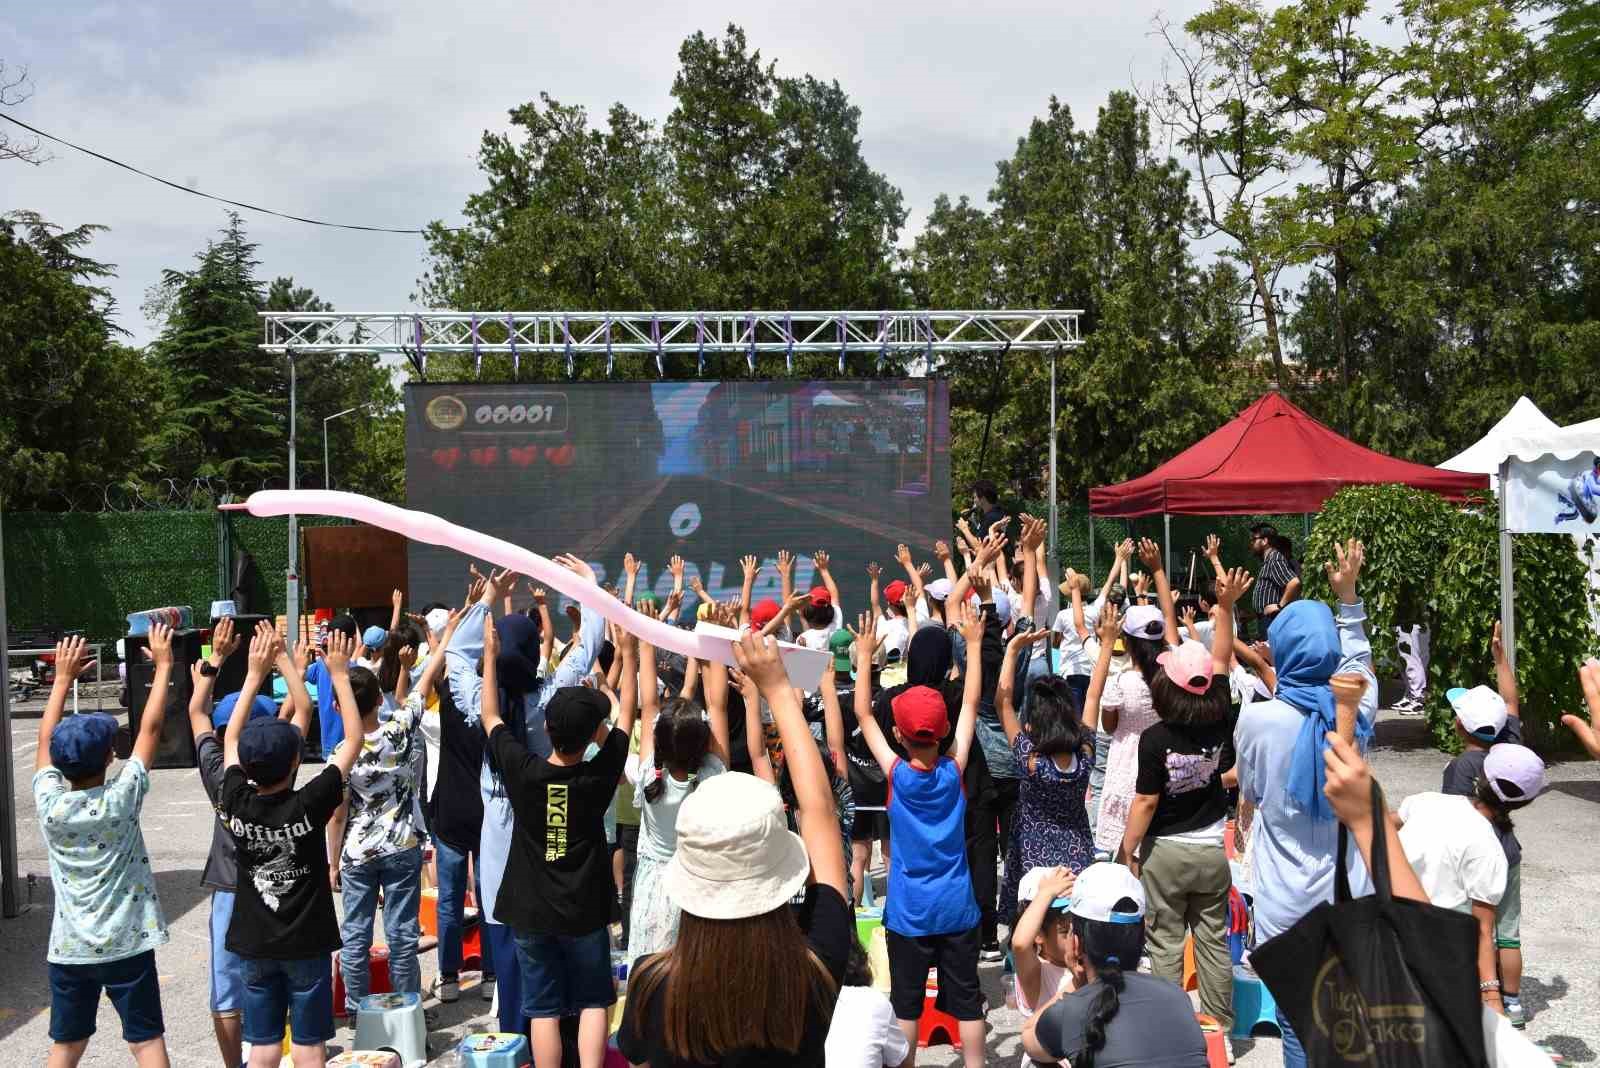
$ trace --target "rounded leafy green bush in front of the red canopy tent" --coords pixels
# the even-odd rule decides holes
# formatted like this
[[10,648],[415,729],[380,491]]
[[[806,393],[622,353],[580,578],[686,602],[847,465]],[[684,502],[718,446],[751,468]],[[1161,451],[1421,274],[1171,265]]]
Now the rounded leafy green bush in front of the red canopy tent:
[[1334,558],[1334,542],[1360,539],[1366,545],[1366,566],[1362,569],[1366,632],[1373,657],[1392,668],[1397,664],[1395,627],[1432,624],[1435,582],[1459,516],[1461,512],[1443,497],[1410,486],[1341,489],[1323,505],[1306,544],[1301,569],[1304,596],[1333,600],[1323,564]]

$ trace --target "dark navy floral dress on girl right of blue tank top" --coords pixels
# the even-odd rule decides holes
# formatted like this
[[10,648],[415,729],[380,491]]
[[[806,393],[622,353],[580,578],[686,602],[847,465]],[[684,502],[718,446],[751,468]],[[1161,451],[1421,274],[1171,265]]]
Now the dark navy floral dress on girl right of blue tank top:
[[1024,731],[1011,742],[1011,755],[1016,758],[1019,782],[1016,819],[1011,820],[1011,841],[1005,854],[1005,883],[1000,887],[1003,923],[1011,923],[1016,916],[1016,887],[1029,868],[1061,865],[1077,873],[1094,862],[1090,811],[1083,804],[1090,771],[1094,767],[1093,748],[1085,747],[1075,753],[1072,767],[1061,771],[1054,759],[1037,753],[1034,740]]

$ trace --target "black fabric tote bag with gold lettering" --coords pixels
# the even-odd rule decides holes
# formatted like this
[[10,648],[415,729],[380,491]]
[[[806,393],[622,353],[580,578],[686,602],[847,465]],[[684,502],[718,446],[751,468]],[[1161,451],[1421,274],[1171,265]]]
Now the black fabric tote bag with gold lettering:
[[1250,961],[1314,1068],[1485,1068],[1477,923],[1397,899],[1382,790],[1373,783],[1371,897],[1350,897],[1339,825],[1334,900],[1264,942]]

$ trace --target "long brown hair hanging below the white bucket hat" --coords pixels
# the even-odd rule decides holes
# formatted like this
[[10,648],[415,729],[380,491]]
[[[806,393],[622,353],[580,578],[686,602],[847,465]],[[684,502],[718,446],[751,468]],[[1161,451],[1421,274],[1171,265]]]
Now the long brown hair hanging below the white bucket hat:
[[645,1020],[661,1020],[661,1041],[678,1060],[715,1063],[736,1049],[800,1052],[806,1007],[832,1015],[838,986],[811,951],[784,902],[744,919],[706,919],[683,913],[678,938],[666,953],[645,958],[629,978],[629,998]]

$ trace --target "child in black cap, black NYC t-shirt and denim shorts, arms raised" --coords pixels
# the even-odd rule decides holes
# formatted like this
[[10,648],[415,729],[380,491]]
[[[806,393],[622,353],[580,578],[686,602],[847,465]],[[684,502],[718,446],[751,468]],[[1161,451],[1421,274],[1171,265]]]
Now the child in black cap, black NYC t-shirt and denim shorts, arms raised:
[[[632,716],[622,710],[621,729],[613,727],[611,702],[600,691],[563,686],[544,707],[550,755],[539,756],[501,718],[499,652],[499,633],[486,627],[483,729],[514,814],[507,892],[494,903],[494,919],[517,943],[520,1012],[533,1022],[536,1068],[562,1063],[562,1017],[574,1012],[579,1057],[598,1065],[616,1002],[608,932],[616,887],[605,811],[627,759]],[[590,740],[600,751],[586,761]]]

